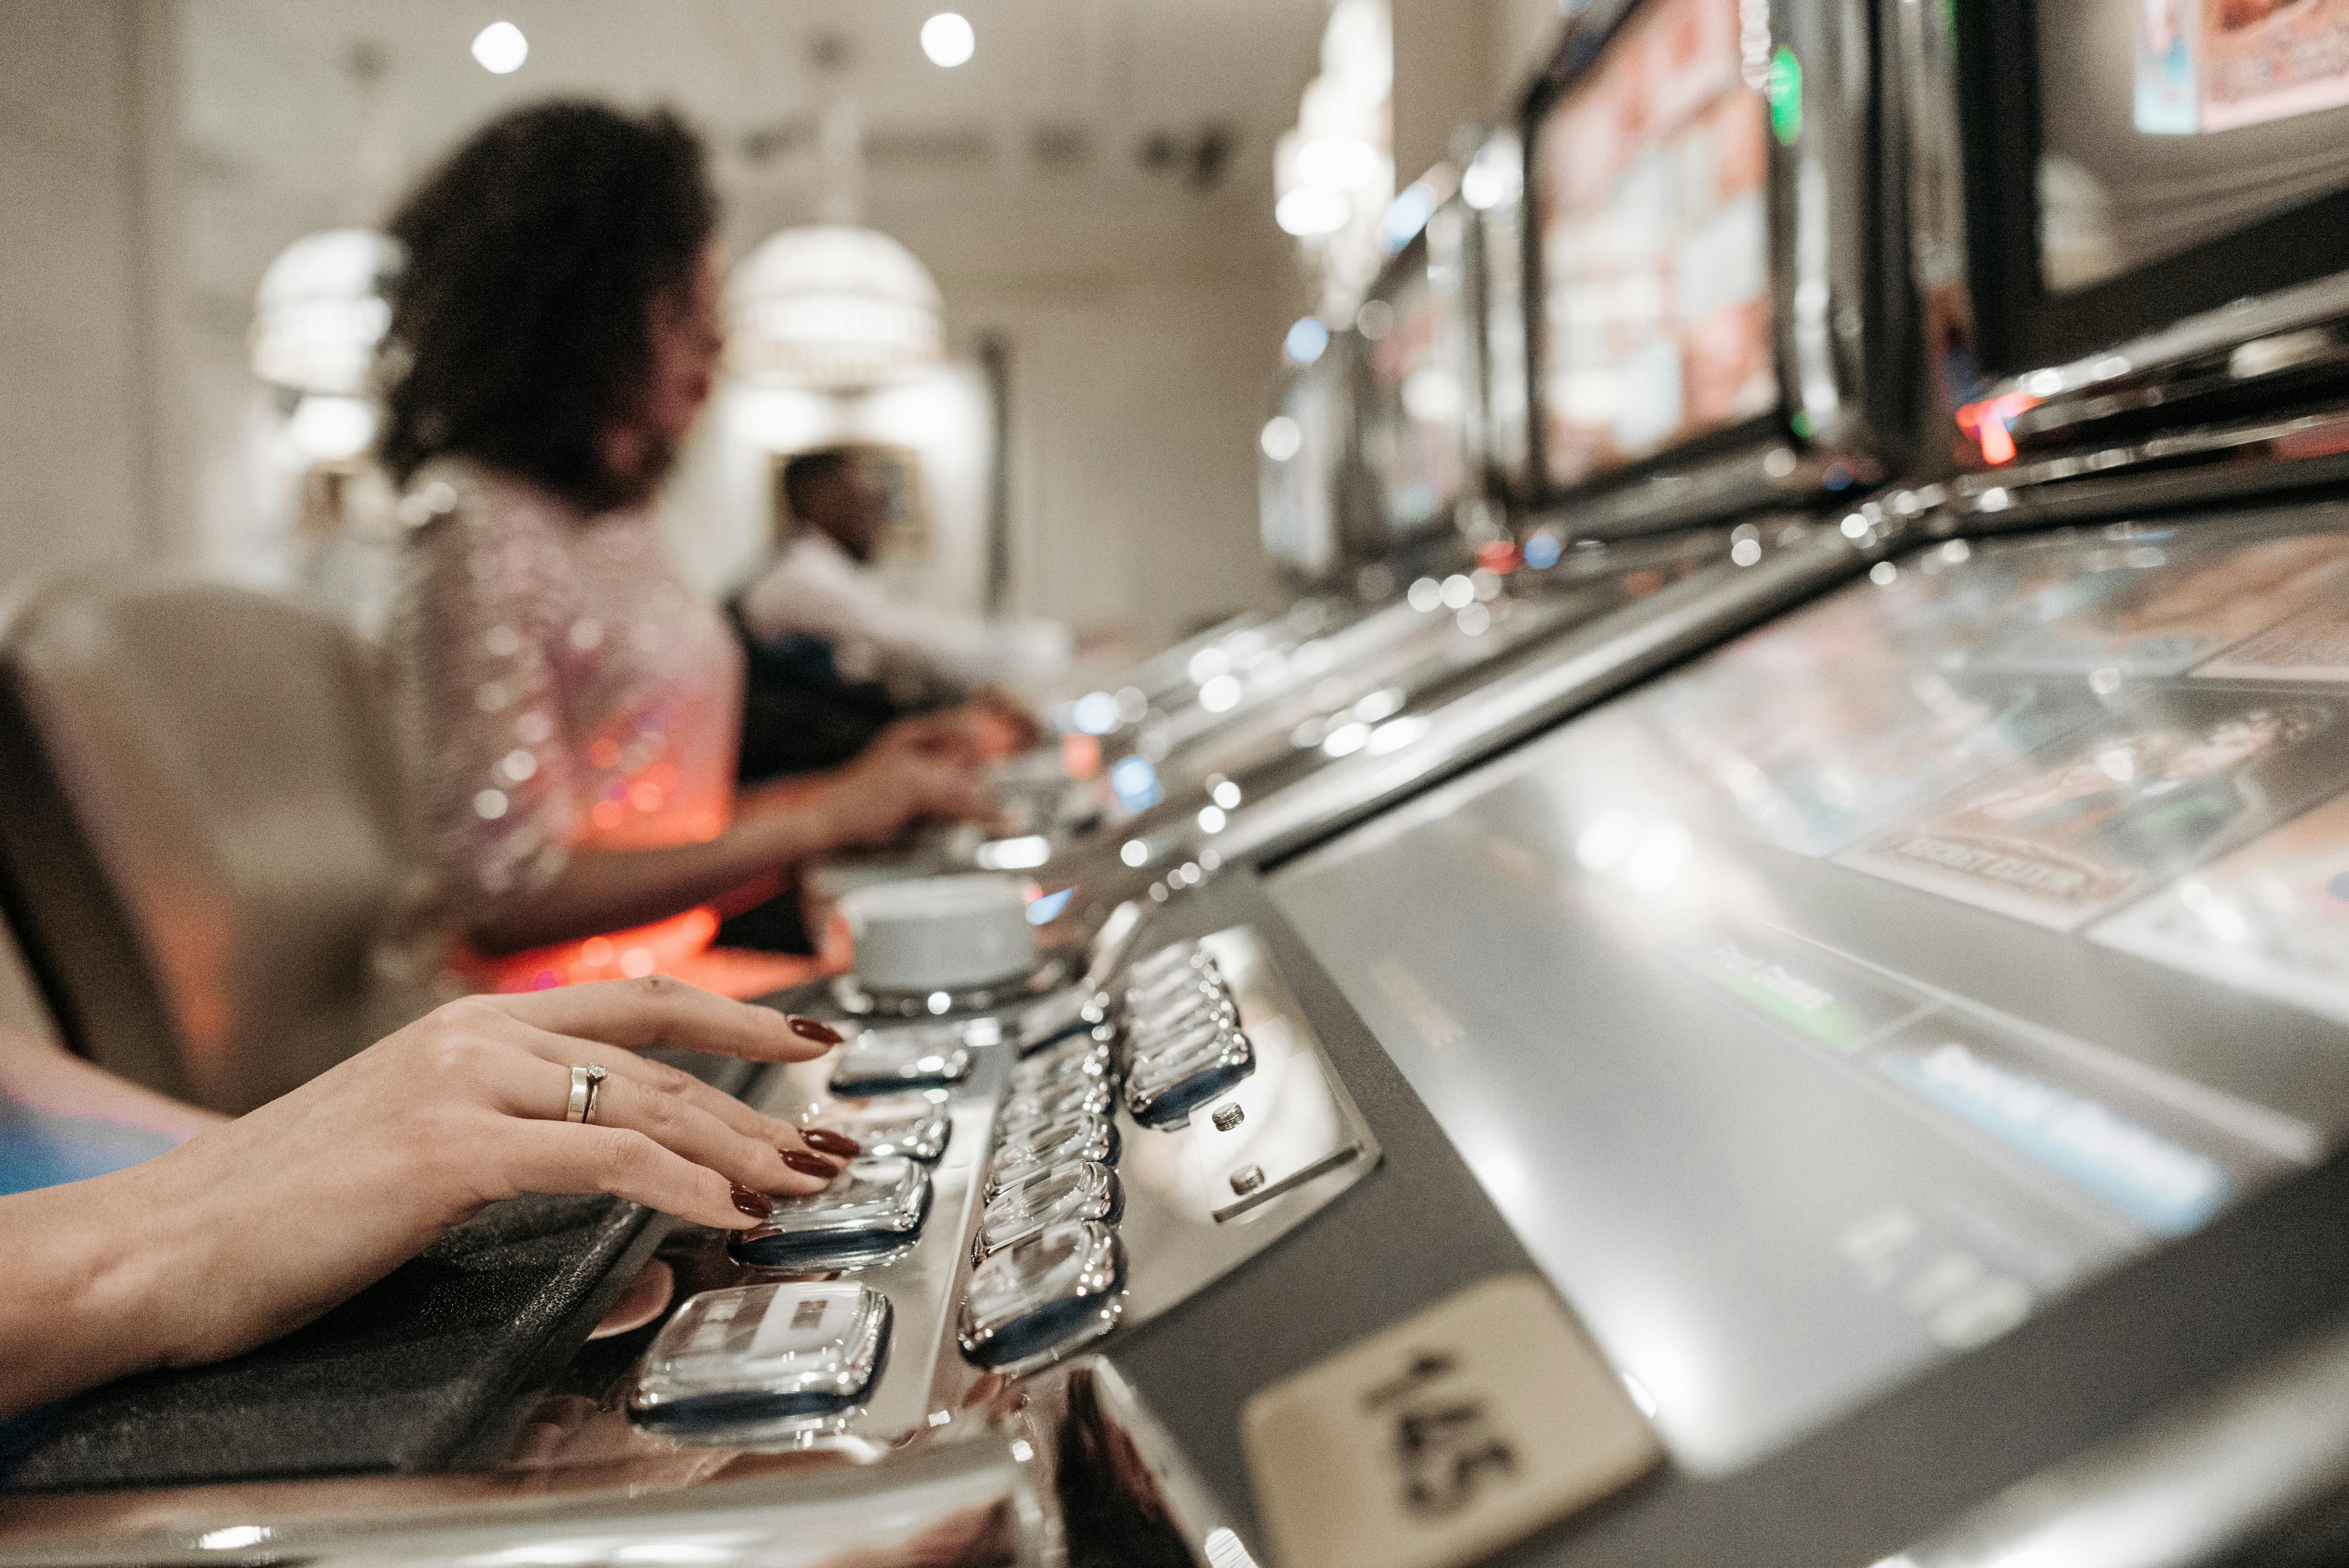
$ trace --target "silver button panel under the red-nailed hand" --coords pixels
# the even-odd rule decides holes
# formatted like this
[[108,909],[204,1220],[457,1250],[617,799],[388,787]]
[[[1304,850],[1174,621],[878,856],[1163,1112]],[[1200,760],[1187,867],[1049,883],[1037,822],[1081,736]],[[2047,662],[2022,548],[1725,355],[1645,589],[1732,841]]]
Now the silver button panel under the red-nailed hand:
[[[1022,1376],[1165,1312],[1377,1162],[1245,927],[1135,965],[1097,953],[1083,986],[991,1016],[864,1028],[770,1073],[756,1103],[864,1155],[824,1192],[775,1199],[759,1228],[712,1235],[714,1277],[731,1265],[886,1298],[900,1345],[926,1350],[883,1366],[846,1413],[803,1415],[869,1451],[951,1420],[987,1373]],[[698,1441],[740,1439],[716,1434],[721,1411],[702,1406],[712,1437]]]

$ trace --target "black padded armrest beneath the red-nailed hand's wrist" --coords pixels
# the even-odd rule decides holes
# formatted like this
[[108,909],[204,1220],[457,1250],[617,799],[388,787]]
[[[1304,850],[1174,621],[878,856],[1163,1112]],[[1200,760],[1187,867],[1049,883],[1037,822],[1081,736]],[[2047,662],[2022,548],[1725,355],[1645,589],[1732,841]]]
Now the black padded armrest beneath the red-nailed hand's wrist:
[[[740,1091],[742,1061],[655,1052]],[[7,1491],[85,1491],[493,1460],[519,1401],[587,1340],[669,1221],[613,1197],[491,1204],[420,1258],[251,1354],[122,1378],[35,1413]]]

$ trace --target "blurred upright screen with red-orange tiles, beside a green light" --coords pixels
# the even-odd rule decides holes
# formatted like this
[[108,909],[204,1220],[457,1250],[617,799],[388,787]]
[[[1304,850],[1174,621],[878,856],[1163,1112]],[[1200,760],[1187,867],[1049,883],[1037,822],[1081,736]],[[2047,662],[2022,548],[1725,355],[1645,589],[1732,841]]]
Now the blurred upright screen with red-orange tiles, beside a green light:
[[1769,108],[1738,9],[1647,0],[1532,129],[1555,488],[1778,406]]

